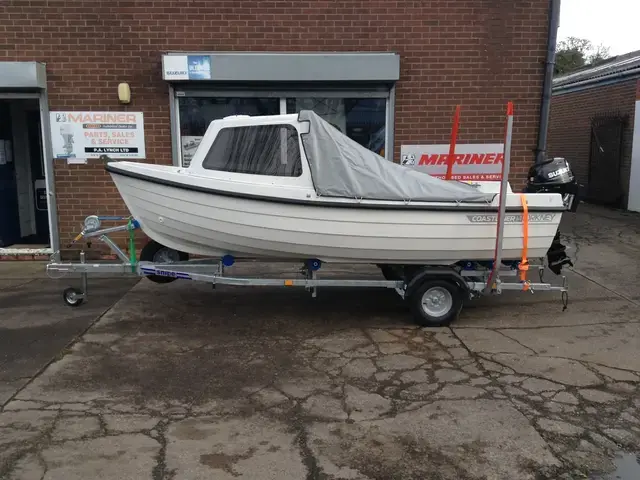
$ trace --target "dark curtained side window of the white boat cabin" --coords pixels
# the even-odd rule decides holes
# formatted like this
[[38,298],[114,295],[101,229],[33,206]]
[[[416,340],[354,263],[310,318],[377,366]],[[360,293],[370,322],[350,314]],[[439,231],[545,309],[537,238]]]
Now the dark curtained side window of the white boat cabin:
[[252,125],[220,130],[202,167],[207,170],[298,177],[302,159],[292,125]]

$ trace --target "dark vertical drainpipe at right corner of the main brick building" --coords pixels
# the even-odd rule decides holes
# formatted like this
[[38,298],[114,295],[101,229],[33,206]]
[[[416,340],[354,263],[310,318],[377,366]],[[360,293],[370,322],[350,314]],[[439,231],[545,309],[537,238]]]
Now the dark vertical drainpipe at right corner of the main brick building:
[[558,26],[560,25],[560,1],[549,2],[549,35],[547,38],[547,60],[542,87],[542,105],[540,108],[540,125],[538,128],[538,146],[536,148],[536,163],[544,160],[547,153],[547,133],[549,130],[549,111],[551,110],[551,89],[553,88],[553,70],[556,57],[556,43],[558,40]]

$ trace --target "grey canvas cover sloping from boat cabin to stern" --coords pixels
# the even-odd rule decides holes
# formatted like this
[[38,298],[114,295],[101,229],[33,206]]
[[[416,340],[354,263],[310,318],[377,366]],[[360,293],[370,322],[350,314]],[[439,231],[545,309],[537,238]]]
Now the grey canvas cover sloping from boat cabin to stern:
[[416,202],[490,202],[495,194],[453,180],[403,167],[351,140],[311,110],[298,119],[309,122],[302,144],[316,193],[326,197]]

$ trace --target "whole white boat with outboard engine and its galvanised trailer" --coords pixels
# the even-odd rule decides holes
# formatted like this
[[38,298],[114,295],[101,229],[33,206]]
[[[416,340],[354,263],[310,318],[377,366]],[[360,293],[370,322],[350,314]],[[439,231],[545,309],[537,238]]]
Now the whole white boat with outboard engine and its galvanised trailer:
[[[512,128],[512,123],[509,128]],[[131,161],[106,170],[127,205],[126,225],[101,228],[111,217],[90,216],[77,237],[97,237],[118,264],[61,263],[50,272],[122,272],[158,283],[176,279],[227,285],[387,287],[409,301],[425,326],[457,317],[465,298],[502,290],[560,291],[527,276],[528,258],[547,257],[560,274],[570,264],[558,226],[577,208],[577,185],[564,159],[529,172],[522,193],[508,178],[510,131],[503,181],[442,180],[390,162],[341,133],[312,111],[233,116],[213,121],[188,167]],[[134,231],[151,239],[136,257]],[[129,253],[108,234],[128,231]],[[192,258],[206,257],[206,258]],[[257,279],[229,274],[236,261],[300,261],[302,278]],[[374,264],[384,279],[319,279],[325,263]],[[501,277],[518,277],[506,282]]]

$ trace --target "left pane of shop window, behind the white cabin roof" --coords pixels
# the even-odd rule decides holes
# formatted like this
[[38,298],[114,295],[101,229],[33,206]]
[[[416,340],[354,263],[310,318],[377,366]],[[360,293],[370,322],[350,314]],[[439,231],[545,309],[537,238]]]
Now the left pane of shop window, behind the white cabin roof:
[[204,133],[213,120],[229,115],[278,115],[278,98],[179,97],[182,165],[191,163]]

